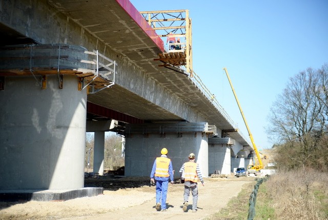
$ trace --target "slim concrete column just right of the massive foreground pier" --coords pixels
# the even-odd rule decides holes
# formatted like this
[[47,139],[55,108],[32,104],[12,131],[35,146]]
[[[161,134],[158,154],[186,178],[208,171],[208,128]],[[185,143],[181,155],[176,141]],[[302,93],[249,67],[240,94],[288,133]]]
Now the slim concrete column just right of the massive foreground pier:
[[105,132],[94,133],[93,172],[104,176]]

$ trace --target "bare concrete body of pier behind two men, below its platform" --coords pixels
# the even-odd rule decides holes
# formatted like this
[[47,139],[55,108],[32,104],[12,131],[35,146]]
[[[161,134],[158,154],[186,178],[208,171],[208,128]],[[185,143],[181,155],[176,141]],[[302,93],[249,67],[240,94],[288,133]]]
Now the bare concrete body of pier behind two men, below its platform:
[[168,157],[172,161],[174,176],[179,177],[179,170],[183,163],[188,161],[188,155],[194,153],[196,162],[199,164],[203,177],[208,177],[208,137],[197,133],[149,134],[145,137],[142,134],[133,134],[126,137],[125,149],[125,175],[126,176],[150,176],[153,163],[156,157],[160,156],[162,148],[168,149]]

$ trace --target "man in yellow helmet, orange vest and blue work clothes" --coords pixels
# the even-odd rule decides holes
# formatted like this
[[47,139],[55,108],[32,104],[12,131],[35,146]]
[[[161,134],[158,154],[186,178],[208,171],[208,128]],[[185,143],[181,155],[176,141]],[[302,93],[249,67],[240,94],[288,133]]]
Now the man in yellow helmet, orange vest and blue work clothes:
[[[161,156],[157,157],[153,164],[153,169],[150,174],[150,181],[156,180],[156,210],[162,212],[167,211],[166,208],[166,195],[169,187],[169,177],[171,184],[174,183],[173,167],[171,160],[167,157],[168,149],[163,148]],[[154,180],[155,179],[155,180]]]

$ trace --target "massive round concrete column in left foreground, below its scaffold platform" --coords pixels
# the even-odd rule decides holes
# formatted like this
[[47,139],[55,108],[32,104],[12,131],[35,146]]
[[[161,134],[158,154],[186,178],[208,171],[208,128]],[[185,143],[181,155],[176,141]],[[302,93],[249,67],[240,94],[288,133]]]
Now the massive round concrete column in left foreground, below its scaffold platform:
[[86,90],[75,76],[6,77],[0,91],[0,189],[84,187]]

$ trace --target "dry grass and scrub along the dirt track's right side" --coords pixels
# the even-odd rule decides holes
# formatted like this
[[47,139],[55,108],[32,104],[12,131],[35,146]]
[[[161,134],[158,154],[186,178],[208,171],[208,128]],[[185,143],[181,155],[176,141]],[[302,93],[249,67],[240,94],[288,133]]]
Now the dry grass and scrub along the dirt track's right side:
[[[247,219],[255,184],[245,184],[225,208],[206,219]],[[259,219],[328,219],[328,174],[300,169],[270,176],[256,196],[254,220]]]

